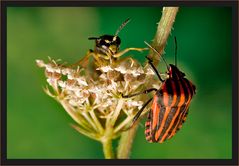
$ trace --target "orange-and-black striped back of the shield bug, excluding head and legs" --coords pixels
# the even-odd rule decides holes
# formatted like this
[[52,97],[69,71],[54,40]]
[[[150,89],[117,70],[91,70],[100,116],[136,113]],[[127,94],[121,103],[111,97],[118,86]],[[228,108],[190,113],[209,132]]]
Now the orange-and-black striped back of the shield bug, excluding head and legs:
[[163,143],[172,138],[182,127],[195,86],[186,78],[167,79],[154,96],[152,107],[145,123],[148,142]]

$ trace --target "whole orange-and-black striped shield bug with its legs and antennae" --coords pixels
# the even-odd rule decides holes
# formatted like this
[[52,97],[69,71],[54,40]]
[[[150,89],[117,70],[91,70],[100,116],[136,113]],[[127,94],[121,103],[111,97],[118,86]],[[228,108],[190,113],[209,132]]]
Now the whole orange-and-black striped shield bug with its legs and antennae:
[[[159,55],[152,46],[147,42],[145,43]],[[140,117],[145,107],[153,101],[145,122],[145,136],[148,142],[163,143],[165,140],[172,138],[182,127],[182,124],[186,120],[192,97],[195,95],[196,87],[191,81],[185,78],[185,74],[177,68],[176,64],[170,64],[168,66],[164,59],[168,69],[168,78],[163,80],[153,65],[152,60],[148,57],[146,58],[159,80],[162,81],[160,89],[151,88],[141,93],[123,97],[128,98],[156,91],[155,95],[150,98],[134,116],[132,125]]]

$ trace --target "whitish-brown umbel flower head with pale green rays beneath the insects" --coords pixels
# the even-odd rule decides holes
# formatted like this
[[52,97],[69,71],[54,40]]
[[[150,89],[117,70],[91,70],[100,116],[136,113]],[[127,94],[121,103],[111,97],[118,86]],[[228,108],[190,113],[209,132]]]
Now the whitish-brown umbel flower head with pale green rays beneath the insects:
[[160,85],[148,65],[143,67],[131,58],[94,71],[80,66],[72,68],[52,59],[48,63],[36,62],[45,68],[50,85],[45,92],[74,119],[75,129],[98,141],[104,139],[109,128],[112,137],[118,137],[147,99],[147,95],[123,98],[122,94],[134,94]]

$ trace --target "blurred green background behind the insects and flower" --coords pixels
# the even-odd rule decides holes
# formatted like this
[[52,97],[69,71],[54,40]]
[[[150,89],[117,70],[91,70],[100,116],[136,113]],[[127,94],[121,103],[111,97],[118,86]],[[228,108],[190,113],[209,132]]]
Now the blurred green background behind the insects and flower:
[[[36,59],[73,63],[94,42],[114,34],[120,24],[121,49],[145,47],[156,32],[160,7],[8,7],[7,8],[7,158],[100,159],[101,144],[70,127],[73,120],[43,92],[47,84]],[[226,7],[182,7],[166,47],[174,63],[197,87],[187,121],[170,141],[147,143],[137,132],[133,159],[230,159],[232,157],[232,11]],[[144,62],[141,53],[130,52]],[[144,54],[145,55],[145,54]],[[166,68],[160,63],[161,71]],[[143,124],[143,121],[142,121]]]

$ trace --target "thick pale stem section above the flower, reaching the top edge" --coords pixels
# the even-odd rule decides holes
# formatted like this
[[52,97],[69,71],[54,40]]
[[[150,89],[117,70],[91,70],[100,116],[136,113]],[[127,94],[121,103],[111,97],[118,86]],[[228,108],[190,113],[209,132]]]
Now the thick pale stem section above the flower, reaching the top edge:
[[[160,56],[164,53],[164,47],[173,27],[178,9],[178,7],[163,7],[162,16],[152,43],[152,46],[159,52]],[[159,58],[155,52],[151,50],[149,57],[153,59],[155,65],[158,64]]]

